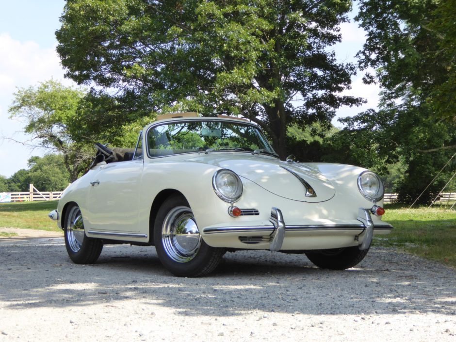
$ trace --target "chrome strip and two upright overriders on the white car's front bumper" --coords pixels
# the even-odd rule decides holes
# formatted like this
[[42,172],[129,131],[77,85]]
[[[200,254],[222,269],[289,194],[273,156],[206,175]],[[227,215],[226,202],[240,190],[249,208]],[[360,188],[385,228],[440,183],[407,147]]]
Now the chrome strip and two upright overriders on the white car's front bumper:
[[266,226],[235,226],[235,227],[206,227],[203,229],[204,234],[209,237],[213,235],[267,235],[267,240],[262,242],[269,242],[269,249],[271,251],[279,251],[282,249],[282,244],[287,234],[296,235],[299,233],[312,234],[315,233],[346,233],[352,231],[358,242],[359,249],[368,249],[372,243],[374,231],[386,232],[391,231],[392,226],[389,224],[374,224],[372,217],[372,209],[359,208],[357,221],[358,224],[334,224],[334,225],[286,225],[280,209],[271,208],[271,216],[269,222],[271,225]]

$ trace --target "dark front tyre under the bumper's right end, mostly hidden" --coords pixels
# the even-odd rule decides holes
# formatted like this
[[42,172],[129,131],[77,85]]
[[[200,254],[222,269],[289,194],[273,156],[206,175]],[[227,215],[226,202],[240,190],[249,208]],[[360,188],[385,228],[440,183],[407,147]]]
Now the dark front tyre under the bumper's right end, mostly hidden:
[[338,249],[326,249],[306,253],[307,258],[320,268],[345,270],[357,265],[364,259],[369,248],[361,250],[358,246]]

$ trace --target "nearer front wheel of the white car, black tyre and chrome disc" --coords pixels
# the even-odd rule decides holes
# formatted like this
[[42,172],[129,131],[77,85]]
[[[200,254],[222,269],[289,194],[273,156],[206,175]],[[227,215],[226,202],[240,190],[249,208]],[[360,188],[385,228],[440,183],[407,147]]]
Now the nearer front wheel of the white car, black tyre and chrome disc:
[[163,266],[178,277],[211,273],[225,253],[225,248],[211,247],[203,241],[193,212],[180,195],[168,197],[160,207],[154,241]]

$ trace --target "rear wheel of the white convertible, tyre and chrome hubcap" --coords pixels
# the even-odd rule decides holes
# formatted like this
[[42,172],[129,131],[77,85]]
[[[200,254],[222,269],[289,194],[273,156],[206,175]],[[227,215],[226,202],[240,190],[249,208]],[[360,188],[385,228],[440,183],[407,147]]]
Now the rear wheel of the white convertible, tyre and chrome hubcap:
[[87,264],[98,260],[103,243],[85,235],[81,209],[73,204],[65,214],[65,246],[74,263]]

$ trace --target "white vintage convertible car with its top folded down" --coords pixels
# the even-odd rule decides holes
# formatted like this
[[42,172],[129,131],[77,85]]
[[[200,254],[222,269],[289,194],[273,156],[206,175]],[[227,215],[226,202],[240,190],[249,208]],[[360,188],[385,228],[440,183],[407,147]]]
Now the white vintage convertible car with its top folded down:
[[76,263],[103,244],[155,245],[180,277],[208,274],[227,251],[304,253],[342,270],[391,225],[383,184],[366,169],[281,161],[259,127],[233,117],[162,115],[135,149],[98,145],[90,170],[65,189],[49,217]]

